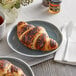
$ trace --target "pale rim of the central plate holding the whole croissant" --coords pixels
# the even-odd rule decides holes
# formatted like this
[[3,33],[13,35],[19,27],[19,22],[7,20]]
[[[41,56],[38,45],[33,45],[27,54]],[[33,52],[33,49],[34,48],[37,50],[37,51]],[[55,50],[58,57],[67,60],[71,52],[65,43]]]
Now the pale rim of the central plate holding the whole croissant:
[[[48,21],[42,21],[42,20],[31,20],[31,21],[40,21],[40,22],[46,22],[46,23],[52,24],[52,23],[50,23],[50,22],[48,22]],[[26,21],[26,22],[30,22],[30,21]],[[60,32],[61,37],[62,37],[62,41],[63,41],[63,35],[62,35],[61,31],[60,31],[54,24],[52,24],[52,25]],[[16,52],[16,53],[18,53],[18,54],[20,54],[20,55],[27,56],[27,57],[45,57],[45,56],[48,56],[48,55],[51,55],[51,54],[55,53],[58,49],[60,49],[60,47],[61,47],[61,45],[62,45],[62,41],[61,41],[60,46],[59,46],[56,50],[53,50],[53,51],[51,51],[51,52],[49,52],[49,53],[47,53],[47,54],[43,54],[43,55],[28,55],[28,54],[21,53],[21,52],[17,51],[16,49],[14,49],[14,48],[12,47],[12,45],[10,44],[10,42],[9,42],[10,33],[11,33],[11,31],[14,29],[15,26],[17,26],[17,25],[14,25],[14,26],[9,30],[9,32],[8,32],[8,34],[7,34],[7,43],[8,43],[8,45],[9,45],[9,47],[10,47],[14,52]]]

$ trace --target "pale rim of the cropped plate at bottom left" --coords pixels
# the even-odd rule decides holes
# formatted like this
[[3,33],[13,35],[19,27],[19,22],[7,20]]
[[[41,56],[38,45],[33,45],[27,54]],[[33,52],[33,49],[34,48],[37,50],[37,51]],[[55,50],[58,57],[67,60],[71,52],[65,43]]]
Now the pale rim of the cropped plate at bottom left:
[[16,59],[16,60],[24,63],[24,64],[29,68],[32,76],[35,76],[33,70],[32,70],[31,67],[30,67],[30,65],[29,65],[28,63],[26,63],[25,61],[23,61],[22,59],[19,59],[19,58],[16,58],[16,57],[12,57],[12,56],[0,56],[0,59],[1,59],[1,58],[5,58],[6,60],[7,60],[7,59]]

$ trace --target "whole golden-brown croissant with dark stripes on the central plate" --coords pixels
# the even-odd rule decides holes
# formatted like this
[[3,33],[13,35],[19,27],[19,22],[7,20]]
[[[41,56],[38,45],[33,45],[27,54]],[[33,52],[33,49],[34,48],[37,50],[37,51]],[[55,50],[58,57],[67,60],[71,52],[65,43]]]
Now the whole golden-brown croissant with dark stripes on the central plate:
[[58,43],[49,38],[45,28],[34,26],[26,22],[19,22],[17,35],[21,43],[30,49],[52,51],[58,47]]

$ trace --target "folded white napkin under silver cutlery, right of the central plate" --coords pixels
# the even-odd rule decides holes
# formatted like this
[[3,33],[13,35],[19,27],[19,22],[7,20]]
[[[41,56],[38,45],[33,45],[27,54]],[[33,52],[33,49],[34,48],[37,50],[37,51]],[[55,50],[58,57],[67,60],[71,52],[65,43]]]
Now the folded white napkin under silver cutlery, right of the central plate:
[[[76,65],[76,26],[73,25],[73,30],[72,30],[71,37],[69,38],[67,50],[65,49],[65,47],[66,47],[66,30],[65,30],[65,28],[62,30],[62,34],[63,34],[62,46],[56,52],[54,61],[71,64],[71,65]],[[66,51],[66,53],[64,53],[65,51]]]

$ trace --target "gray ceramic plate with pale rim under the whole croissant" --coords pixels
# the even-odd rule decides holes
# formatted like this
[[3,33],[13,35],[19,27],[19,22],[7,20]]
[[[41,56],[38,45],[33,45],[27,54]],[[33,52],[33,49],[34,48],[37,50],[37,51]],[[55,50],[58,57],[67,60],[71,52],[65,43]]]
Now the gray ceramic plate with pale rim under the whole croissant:
[[[58,28],[56,26],[54,26],[51,23],[45,22],[45,21],[28,21],[29,24],[33,24],[35,26],[43,26],[46,31],[48,32],[49,36],[53,39],[55,39],[58,44],[59,47],[62,43],[62,34],[61,32],[58,30]],[[17,25],[14,26],[8,33],[7,36],[7,42],[8,45],[17,53],[25,55],[25,56],[29,56],[29,57],[43,57],[43,56],[47,56],[50,55],[52,53],[55,53],[56,50],[50,51],[50,52],[42,52],[39,50],[31,50],[29,48],[27,48],[26,46],[24,46],[17,37]]]

